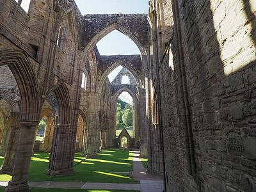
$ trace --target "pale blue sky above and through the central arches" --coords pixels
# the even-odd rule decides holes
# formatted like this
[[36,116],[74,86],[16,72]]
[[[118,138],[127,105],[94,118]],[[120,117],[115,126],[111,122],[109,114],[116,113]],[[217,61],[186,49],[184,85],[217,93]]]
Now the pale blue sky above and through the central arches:
[[[86,14],[115,14],[115,13],[148,13],[148,0],[75,0],[76,4],[82,13]],[[127,36],[119,31],[112,31],[104,36],[97,43],[97,47],[101,55],[115,54],[140,54],[138,47]],[[113,70],[108,78],[113,81],[122,67],[117,67]],[[132,100],[129,93],[122,93],[123,98],[127,97]],[[121,96],[121,95],[120,95]],[[122,97],[122,96],[121,96]],[[131,104],[131,101],[129,102]]]

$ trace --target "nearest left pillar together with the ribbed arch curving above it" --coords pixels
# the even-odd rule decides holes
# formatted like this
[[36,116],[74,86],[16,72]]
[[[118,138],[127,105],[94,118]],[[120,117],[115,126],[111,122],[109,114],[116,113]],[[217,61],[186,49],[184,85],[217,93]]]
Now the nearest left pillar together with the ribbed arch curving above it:
[[[0,66],[12,71],[20,92],[19,141],[15,153],[13,177],[6,190],[28,191],[28,169],[33,149],[35,129],[40,111],[40,92],[31,63],[22,51],[1,51]],[[13,135],[14,136],[14,135]],[[24,151],[24,148],[26,150]]]

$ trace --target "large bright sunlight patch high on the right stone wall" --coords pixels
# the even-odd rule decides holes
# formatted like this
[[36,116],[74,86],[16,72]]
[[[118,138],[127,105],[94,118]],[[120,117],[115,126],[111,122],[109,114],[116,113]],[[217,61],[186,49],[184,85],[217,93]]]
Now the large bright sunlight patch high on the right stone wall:
[[[220,44],[220,58],[226,76],[256,60],[256,47],[251,36],[252,23],[248,22],[244,1],[227,2],[216,3],[215,0],[211,0],[212,20]],[[250,4],[253,4],[252,2],[253,0],[250,0]],[[225,12],[228,6],[232,9],[230,12]]]

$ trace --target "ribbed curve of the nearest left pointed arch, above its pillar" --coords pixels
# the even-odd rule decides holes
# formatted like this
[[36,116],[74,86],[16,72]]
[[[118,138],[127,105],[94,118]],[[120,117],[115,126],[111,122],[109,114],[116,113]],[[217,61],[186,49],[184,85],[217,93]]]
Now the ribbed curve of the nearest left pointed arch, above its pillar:
[[7,65],[20,91],[20,119],[37,121],[40,114],[40,92],[33,67],[22,51],[1,51],[0,66]]

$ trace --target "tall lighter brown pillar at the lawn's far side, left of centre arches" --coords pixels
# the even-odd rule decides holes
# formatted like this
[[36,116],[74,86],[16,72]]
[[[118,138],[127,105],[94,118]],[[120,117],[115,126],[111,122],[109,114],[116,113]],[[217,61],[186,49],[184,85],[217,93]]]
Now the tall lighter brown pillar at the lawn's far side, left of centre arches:
[[99,111],[100,111],[100,93],[91,92],[88,120],[88,134],[86,143],[86,155],[89,158],[97,157],[99,150]]

